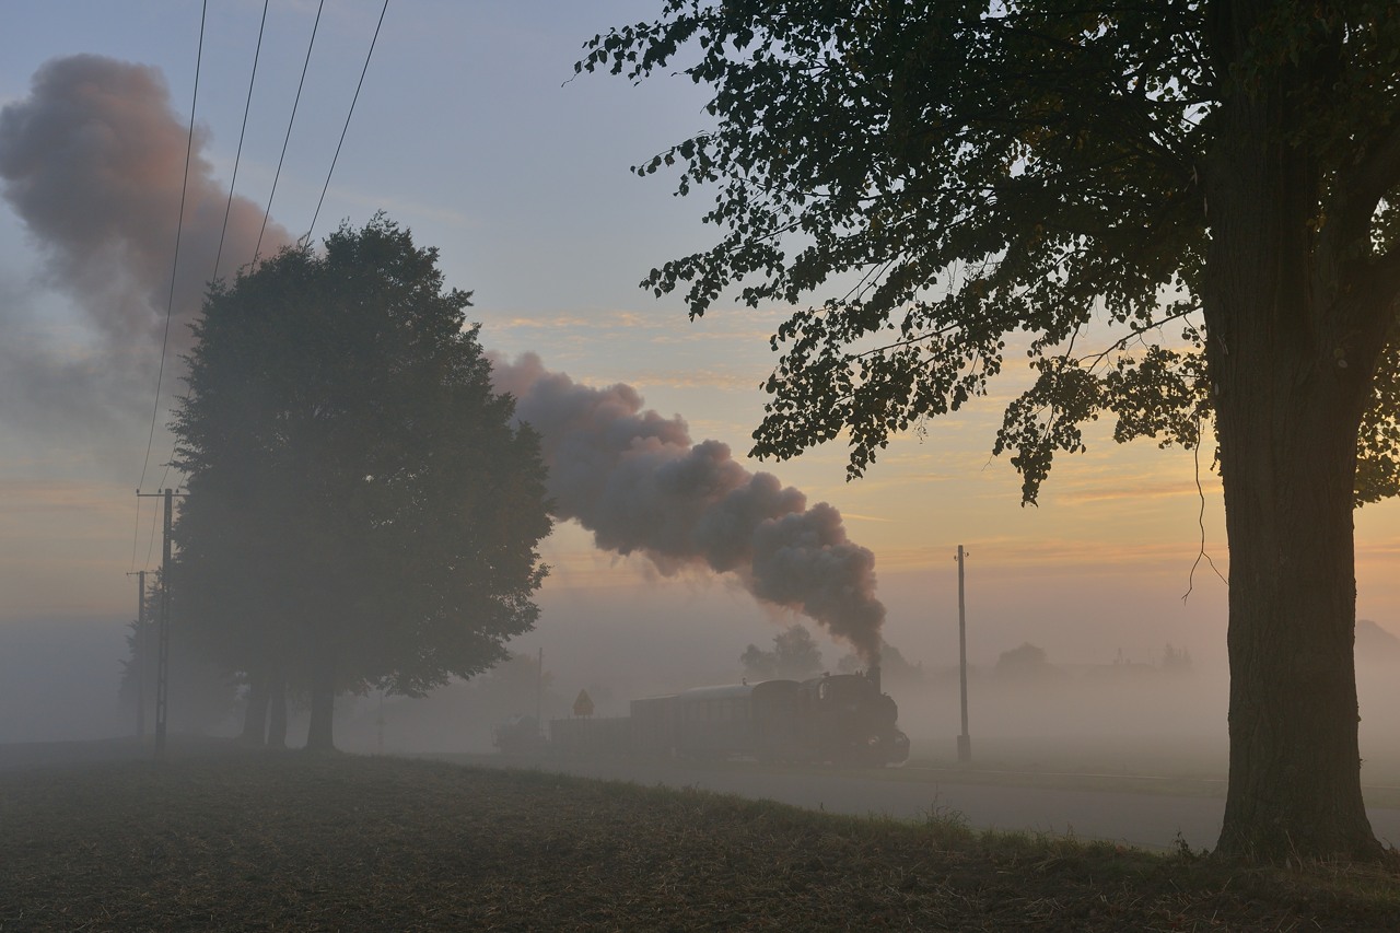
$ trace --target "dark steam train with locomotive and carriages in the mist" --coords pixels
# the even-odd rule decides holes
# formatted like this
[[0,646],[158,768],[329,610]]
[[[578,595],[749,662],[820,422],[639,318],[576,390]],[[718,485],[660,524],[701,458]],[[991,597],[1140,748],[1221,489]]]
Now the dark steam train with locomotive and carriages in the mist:
[[881,692],[879,668],[806,681],[762,681],[634,699],[630,716],[556,719],[549,745],[566,754],[764,762],[897,765],[909,737]]

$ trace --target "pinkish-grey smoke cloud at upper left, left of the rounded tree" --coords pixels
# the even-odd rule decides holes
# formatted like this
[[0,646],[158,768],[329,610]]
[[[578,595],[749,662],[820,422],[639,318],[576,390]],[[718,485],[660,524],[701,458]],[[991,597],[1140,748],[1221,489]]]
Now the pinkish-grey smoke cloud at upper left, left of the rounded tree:
[[[129,409],[133,395],[151,392],[171,296],[188,134],[157,69],[95,55],[45,63],[29,97],[0,111],[4,199],[43,251],[45,283],[77,298],[84,318],[73,332],[22,318],[17,304],[0,308],[7,333],[31,335],[22,345],[11,339],[0,346],[0,392],[31,399],[31,417],[73,419],[99,401]],[[204,141],[206,133],[196,130],[169,360],[189,346],[188,322],[214,277],[228,206],[228,188],[214,181],[200,154]],[[258,206],[234,199],[220,276],[231,277],[252,259],[262,223]],[[288,241],[286,230],[269,224],[262,254]],[[83,420],[98,415],[88,410]]]

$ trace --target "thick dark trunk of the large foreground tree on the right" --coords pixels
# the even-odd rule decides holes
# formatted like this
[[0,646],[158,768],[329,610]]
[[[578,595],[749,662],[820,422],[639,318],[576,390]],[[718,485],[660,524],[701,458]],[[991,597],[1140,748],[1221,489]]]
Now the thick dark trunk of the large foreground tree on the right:
[[[1267,0],[1218,3],[1240,60]],[[1316,64],[1316,63],[1313,63]],[[1376,859],[1357,742],[1352,490],[1380,353],[1315,231],[1320,174],[1291,90],[1309,62],[1233,83],[1207,164],[1207,353],[1229,534],[1229,789],[1218,852]]]

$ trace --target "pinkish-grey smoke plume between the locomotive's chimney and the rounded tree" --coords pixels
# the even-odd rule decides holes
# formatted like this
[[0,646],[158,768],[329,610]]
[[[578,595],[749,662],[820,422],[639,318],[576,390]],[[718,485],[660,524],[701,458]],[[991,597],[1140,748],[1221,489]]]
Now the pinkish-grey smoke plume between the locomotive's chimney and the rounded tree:
[[836,509],[809,509],[797,489],[735,462],[727,444],[692,443],[683,420],[643,410],[630,385],[578,385],[532,353],[491,364],[496,389],[514,395],[517,416],[540,434],[557,517],[664,574],[732,573],[759,600],[878,660],[875,555],[847,539]]

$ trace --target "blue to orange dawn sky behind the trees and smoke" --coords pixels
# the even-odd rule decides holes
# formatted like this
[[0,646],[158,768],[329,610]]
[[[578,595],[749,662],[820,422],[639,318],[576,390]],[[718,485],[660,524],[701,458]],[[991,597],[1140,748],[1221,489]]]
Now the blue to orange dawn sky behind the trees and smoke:
[[[307,233],[314,216],[319,240],[343,220],[363,226],[385,210],[440,249],[451,286],[473,291],[470,317],[490,350],[536,353],[585,385],[629,384],[647,408],[685,419],[694,440],[722,441],[748,471],[773,472],[809,503],[837,509],[851,541],[875,556],[885,639],[910,660],[956,663],[953,555],[965,545],[974,663],[991,664],[1023,642],[1060,663],[1151,663],[1172,643],[1222,665],[1226,588],[1205,562],[1194,566],[1204,539],[1214,566],[1229,570],[1208,452],[1197,464],[1191,451],[1151,441],[1116,445],[1112,426],[1095,424],[1089,451],[1061,457],[1039,507],[1022,507],[1019,476],[990,455],[1001,410],[1026,381],[1014,354],[993,396],[895,438],[857,482],[846,481],[840,443],[790,462],[745,459],[762,417],[759,384],[776,363],[767,336],[785,310],[729,301],[690,322],[679,300],[638,287],[651,268],[710,244],[713,231],[700,223],[710,193],[676,198],[664,174],[629,171],[706,126],[704,91],[680,77],[637,87],[574,78],[588,38],[650,18],[654,6],[391,0],[316,214],[381,3],[325,4],[279,172],[316,3],[274,0],[237,158],[235,213],[246,230],[230,251],[244,255],[221,270],[251,258],[245,241],[263,212],[276,242]],[[225,198],[262,8],[213,0],[199,50],[192,0],[17,4],[0,34],[0,108],[29,101],[46,62],[85,53],[154,69],[132,80],[164,83],[188,126],[199,53],[196,139],[211,191]],[[168,168],[157,181],[174,192],[167,182],[178,184],[181,167]],[[157,206],[118,207],[151,210],[140,223],[155,228],[164,223]],[[164,269],[169,240],[169,254],[141,261]],[[196,291],[210,275],[175,268]],[[155,500],[133,493],[178,485],[164,471],[164,423],[186,338],[176,324],[157,395],[164,301],[148,289],[133,298],[118,279],[101,263],[57,255],[15,198],[0,202],[0,644],[11,646],[0,663],[22,664],[15,646],[25,642],[6,642],[6,626],[92,626],[109,637],[134,611],[127,574],[160,558]],[[120,340],[111,315],[136,322]],[[543,649],[561,685],[623,665],[645,665],[657,679],[732,677],[748,643],[767,646],[799,621],[763,608],[725,574],[662,577],[644,559],[601,551],[577,523],[556,530],[543,558],[552,573],[540,623],[512,647]],[[1400,632],[1397,558],[1400,503],[1361,510],[1358,615]],[[823,646],[832,665],[847,650]]]

